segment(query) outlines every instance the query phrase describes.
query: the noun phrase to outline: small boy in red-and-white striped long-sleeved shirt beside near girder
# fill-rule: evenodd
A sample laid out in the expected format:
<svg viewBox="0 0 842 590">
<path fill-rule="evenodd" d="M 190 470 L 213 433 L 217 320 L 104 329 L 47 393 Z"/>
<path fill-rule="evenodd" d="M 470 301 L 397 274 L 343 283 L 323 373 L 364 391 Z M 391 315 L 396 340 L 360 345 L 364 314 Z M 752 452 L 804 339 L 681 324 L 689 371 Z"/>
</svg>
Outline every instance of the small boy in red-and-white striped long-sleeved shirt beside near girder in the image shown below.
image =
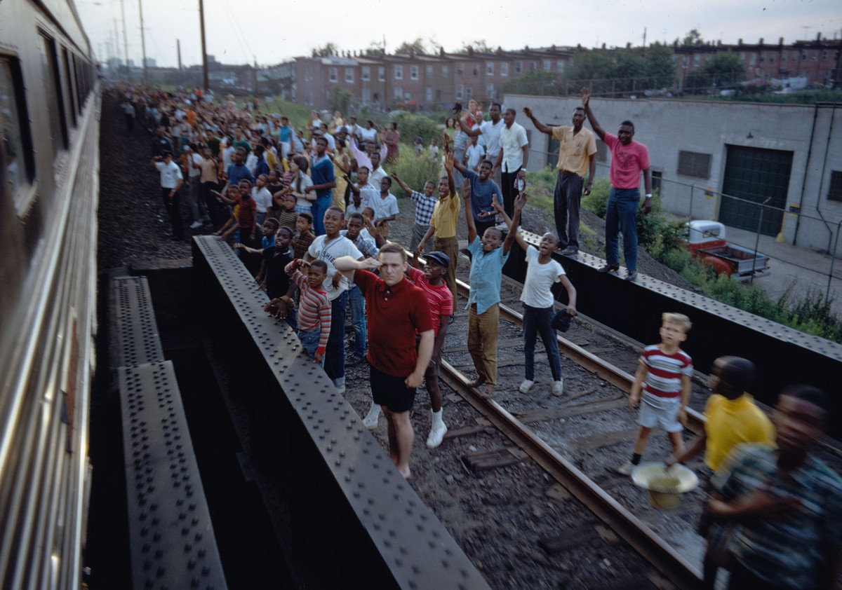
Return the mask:
<svg viewBox="0 0 842 590">
<path fill-rule="evenodd" d="M 306 268 L 306 277 L 299 269 Z M 286 265 L 286 274 L 299 288 L 298 339 L 307 356 L 324 366 L 324 352 L 330 335 L 331 303 L 328 293 L 322 291 L 322 282 L 328 276 L 324 261 L 307 262 L 296 258 Z"/>
</svg>

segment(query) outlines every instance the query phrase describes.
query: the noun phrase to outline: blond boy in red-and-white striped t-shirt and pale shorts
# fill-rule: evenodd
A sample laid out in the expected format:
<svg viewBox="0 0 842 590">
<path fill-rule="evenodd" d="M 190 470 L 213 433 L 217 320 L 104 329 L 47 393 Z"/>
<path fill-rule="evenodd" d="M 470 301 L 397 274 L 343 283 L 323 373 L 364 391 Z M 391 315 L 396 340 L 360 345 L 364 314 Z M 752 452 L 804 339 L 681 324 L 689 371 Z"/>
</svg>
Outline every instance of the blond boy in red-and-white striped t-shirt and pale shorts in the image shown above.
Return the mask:
<svg viewBox="0 0 842 590">
<path fill-rule="evenodd" d="M 681 430 L 687 421 L 687 403 L 690 401 L 690 376 L 693 374 L 693 361 L 681 350 L 680 345 L 687 340 L 690 331 L 690 318 L 682 313 L 663 313 L 661 316 L 661 341 L 657 345 L 647 346 L 640 356 L 640 366 L 635 373 L 632 394 L 629 396 L 629 411 L 633 412 L 641 399 L 640 432 L 634 444 L 631 461 L 626 461 L 617 468 L 622 475 L 629 475 L 640 463 L 640 457 L 655 426 L 666 430 L 673 447 L 673 456 L 685 452 Z"/>
</svg>

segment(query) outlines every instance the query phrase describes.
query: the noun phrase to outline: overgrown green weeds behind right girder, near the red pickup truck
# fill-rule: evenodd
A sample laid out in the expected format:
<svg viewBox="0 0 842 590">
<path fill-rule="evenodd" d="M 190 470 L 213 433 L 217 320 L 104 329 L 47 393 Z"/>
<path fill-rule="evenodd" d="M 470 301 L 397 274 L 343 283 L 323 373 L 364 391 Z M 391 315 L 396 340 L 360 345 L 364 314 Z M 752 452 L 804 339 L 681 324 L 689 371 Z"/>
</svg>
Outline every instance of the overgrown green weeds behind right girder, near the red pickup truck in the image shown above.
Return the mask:
<svg viewBox="0 0 842 590">
<path fill-rule="evenodd" d="M 584 207 L 603 219 L 609 188 L 607 180 L 597 181 L 589 197 L 583 198 Z M 833 300 L 825 300 L 823 294 L 815 290 L 799 299 L 786 292 L 775 300 L 762 287 L 717 275 L 710 266 L 701 264 L 685 250 L 681 240 L 685 221 L 676 221 L 665 215 L 656 194 L 652 213 L 638 216 L 638 241 L 656 261 L 678 272 L 708 297 L 806 334 L 842 343 L 842 319 L 831 307 Z"/>
</svg>

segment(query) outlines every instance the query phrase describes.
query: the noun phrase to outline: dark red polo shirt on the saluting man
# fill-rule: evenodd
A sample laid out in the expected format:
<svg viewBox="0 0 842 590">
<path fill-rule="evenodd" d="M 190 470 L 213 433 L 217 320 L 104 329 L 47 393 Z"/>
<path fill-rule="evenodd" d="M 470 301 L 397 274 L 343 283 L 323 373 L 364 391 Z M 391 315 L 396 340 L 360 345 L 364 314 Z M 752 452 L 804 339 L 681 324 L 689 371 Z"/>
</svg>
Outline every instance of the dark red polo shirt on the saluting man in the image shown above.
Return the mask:
<svg viewBox="0 0 842 590">
<path fill-rule="evenodd" d="M 415 371 L 415 333 L 433 329 L 424 291 L 407 279 L 389 287 L 373 272 L 354 271 L 354 283 L 365 295 L 369 351 L 366 359 L 392 377 Z"/>
</svg>

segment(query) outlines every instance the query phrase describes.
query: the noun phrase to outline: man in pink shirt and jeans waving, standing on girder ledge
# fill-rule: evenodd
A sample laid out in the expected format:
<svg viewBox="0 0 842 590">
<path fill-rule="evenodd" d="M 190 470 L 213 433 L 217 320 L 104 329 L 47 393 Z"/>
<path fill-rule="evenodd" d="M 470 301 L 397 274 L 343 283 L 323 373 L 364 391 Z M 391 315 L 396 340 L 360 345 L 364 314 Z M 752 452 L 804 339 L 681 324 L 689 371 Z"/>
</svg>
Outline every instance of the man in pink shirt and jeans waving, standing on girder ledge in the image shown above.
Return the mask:
<svg viewBox="0 0 842 590">
<path fill-rule="evenodd" d="M 626 281 L 637 278 L 637 208 L 640 205 L 640 173 L 646 187 L 643 214 L 652 209 L 652 174 L 649 172 L 649 150 L 646 145 L 632 141 L 634 124 L 623 121 L 616 135 L 600 127 L 590 110 L 590 92 L 582 89 L 582 104 L 594 133 L 611 150 L 611 191 L 605 212 L 605 266 L 600 272 L 620 269 L 617 250 L 618 233 L 623 234 L 623 255 L 626 256 Z"/>
</svg>

